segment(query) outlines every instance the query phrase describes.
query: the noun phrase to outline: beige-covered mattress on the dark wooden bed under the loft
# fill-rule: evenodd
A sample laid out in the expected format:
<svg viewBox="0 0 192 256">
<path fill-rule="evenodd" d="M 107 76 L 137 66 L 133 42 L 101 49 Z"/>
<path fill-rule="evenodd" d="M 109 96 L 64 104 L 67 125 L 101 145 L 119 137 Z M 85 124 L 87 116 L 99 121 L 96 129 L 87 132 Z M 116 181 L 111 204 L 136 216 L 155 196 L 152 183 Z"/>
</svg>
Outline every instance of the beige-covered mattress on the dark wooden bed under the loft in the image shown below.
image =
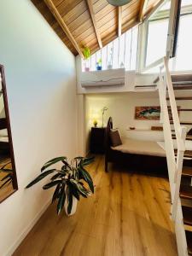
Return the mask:
<svg viewBox="0 0 192 256">
<path fill-rule="evenodd" d="M 166 157 L 166 151 L 157 142 L 135 140 L 131 138 L 122 139 L 122 145 L 111 147 L 128 154 L 143 154 Z"/>
</svg>

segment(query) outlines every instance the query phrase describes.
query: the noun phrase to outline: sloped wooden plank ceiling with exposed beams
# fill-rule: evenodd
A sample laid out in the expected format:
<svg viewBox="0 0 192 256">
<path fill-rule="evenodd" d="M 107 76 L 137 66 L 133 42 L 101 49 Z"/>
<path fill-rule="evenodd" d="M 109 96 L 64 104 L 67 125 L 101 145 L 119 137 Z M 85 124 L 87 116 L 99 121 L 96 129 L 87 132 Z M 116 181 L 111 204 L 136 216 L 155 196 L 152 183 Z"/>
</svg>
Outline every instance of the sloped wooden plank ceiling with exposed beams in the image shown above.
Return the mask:
<svg viewBox="0 0 192 256">
<path fill-rule="evenodd" d="M 141 22 L 162 0 L 132 0 L 114 7 L 107 0 L 32 0 L 73 55 L 94 53 Z"/>
</svg>

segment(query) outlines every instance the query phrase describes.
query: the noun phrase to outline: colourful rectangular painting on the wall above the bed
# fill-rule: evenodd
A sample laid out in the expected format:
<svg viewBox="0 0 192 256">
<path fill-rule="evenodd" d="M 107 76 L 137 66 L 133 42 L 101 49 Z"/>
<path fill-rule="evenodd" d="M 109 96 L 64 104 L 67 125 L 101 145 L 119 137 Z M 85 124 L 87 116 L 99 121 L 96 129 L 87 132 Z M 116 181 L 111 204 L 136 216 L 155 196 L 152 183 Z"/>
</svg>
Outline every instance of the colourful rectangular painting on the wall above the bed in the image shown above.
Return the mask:
<svg viewBox="0 0 192 256">
<path fill-rule="evenodd" d="M 160 106 L 136 107 L 135 119 L 137 119 L 137 120 L 160 120 Z"/>
</svg>

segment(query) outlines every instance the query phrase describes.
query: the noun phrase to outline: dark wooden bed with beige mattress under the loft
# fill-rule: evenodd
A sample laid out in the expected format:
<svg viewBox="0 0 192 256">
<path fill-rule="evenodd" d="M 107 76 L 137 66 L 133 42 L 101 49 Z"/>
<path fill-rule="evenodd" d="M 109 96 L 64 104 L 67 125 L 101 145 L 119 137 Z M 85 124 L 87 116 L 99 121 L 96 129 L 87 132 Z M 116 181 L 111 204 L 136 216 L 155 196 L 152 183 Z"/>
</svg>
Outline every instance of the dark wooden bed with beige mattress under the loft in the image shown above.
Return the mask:
<svg viewBox="0 0 192 256">
<path fill-rule="evenodd" d="M 112 147 L 110 131 L 113 120 L 108 119 L 105 143 L 105 171 L 108 163 L 123 164 L 129 170 L 136 172 L 153 172 L 167 175 L 166 152 L 157 142 L 122 139 L 122 145 Z"/>
</svg>

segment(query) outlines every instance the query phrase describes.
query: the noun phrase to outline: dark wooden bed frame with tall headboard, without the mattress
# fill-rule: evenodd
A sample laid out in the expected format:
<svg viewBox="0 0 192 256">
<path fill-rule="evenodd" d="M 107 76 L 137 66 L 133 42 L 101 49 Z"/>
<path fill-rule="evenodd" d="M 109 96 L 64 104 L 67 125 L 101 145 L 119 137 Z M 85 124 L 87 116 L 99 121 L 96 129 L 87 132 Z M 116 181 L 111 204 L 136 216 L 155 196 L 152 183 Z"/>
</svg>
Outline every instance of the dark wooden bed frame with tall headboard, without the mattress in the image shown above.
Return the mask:
<svg viewBox="0 0 192 256">
<path fill-rule="evenodd" d="M 116 163 L 128 168 L 131 172 L 144 172 L 158 175 L 168 175 L 166 157 L 143 155 L 143 154 L 127 154 L 111 148 L 109 133 L 113 129 L 113 120 L 108 119 L 106 129 L 105 142 L 105 172 L 108 172 L 108 163 Z"/>
</svg>

